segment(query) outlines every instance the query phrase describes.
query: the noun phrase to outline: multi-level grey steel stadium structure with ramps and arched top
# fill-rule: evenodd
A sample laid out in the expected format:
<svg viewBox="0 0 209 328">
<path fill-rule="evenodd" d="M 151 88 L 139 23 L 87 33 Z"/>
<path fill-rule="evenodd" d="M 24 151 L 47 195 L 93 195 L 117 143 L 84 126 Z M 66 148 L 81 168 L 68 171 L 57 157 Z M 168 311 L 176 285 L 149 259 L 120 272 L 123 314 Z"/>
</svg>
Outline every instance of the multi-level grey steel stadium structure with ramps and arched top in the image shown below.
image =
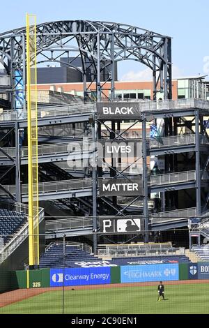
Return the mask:
<svg viewBox="0 0 209 328">
<path fill-rule="evenodd" d="M 76 135 L 76 124 L 91 124 L 93 148 L 89 151 L 75 151 L 69 154 L 68 141 L 75 140 L 68 137 L 64 144 L 56 144 L 59 140 L 56 133 L 52 139 L 40 135 L 38 159 L 40 165 L 40 201 L 60 200 L 63 208 L 69 206 L 76 211 L 77 207 L 83 209 L 85 216 L 66 220 L 62 229 L 57 228 L 57 221 L 47 221 L 46 229 L 60 237 L 63 232 L 68 235 L 93 234 L 94 251 L 97 246 L 97 236 L 100 223 L 104 216 L 114 218 L 130 218 L 136 214 L 143 214 L 145 241 L 148 241 L 148 231 L 165 230 L 187 226 L 191 216 L 201 216 L 208 208 L 208 135 L 203 124 L 203 117 L 208 117 L 208 102 L 201 100 L 171 100 L 171 38 L 158 33 L 111 22 L 90 21 L 61 21 L 39 24 L 37 26 L 37 63 L 61 62 L 63 54 L 70 58 L 71 52 L 82 58 L 81 71 L 84 81 L 84 103 L 66 103 L 58 106 L 54 103 L 43 107 L 39 104 L 38 127 L 45 127 L 46 131 L 52 127 L 54 131 L 59 126 L 68 125 L 72 135 Z M 27 202 L 26 174 L 21 166 L 27 163 L 27 148 L 20 145 L 20 133 L 26 132 L 26 29 L 20 28 L 0 34 L 1 64 L 6 68 L 7 76 L 1 79 L 1 94 L 7 94 L 7 100 L 2 97 L 1 107 L 1 196 L 10 196 L 17 202 Z M 134 197 L 127 205 L 122 205 L 118 197 L 100 197 L 98 195 L 98 181 L 105 177 L 104 171 L 93 167 L 92 174 L 86 178 L 86 173 L 69 172 L 55 165 L 56 161 L 71 159 L 86 159 L 93 156 L 96 161 L 95 142 L 104 139 L 101 126 L 106 126 L 109 140 L 125 140 L 121 131 L 121 121 L 112 120 L 111 128 L 106 124 L 107 119 L 98 119 L 97 106 L 91 100 L 90 88 L 95 82 L 97 103 L 104 100 L 104 90 L 107 82 L 111 82 L 109 99 L 114 96 L 114 64 L 116 61 L 135 60 L 145 64 L 153 70 L 153 100 L 139 103 L 140 115 L 138 121 L 142 124 L 142 176 L 143 179 L 143 210 L 133 207 L 132 204 L 139 197 Z M 66 64 L 66 63 L 65 63 Z M 69 66 L 73 62 L 69 61 Z M 91 83 L 87 84 L 86 74 L 91 71 Z M 101 82 L 102 71 L 108 72 L 107 79 Z M 164 92 L 164 100 L 155 101 L 157 91 Z M 192 117 L 192 119 L 191 119 Z M 147 140 L 146 122 L 161 119 L 164 127 L 160 137 Z M 109 121 L 109 119 L 108 119 Z M 133 124 L 133 125 L 134 125 Z M 187 135 L 183 131 L 189 131 Z M 68 129 L 67 129 L 68 130 Z M 50 134 L 50 133 L 49 133 Z M 54 140 L 54 144 L 52 144 Z M 82 142 L 81 137 L 77 141 Z M 62 142 L 63 140 L 61 140 Z M 139 140 L 138 140 L 139 141 Z M 3 147 L 4 146 L 4 147 Z M 188 154 L 192 154 L 190 158 Z M 157 176 L 148 175 L 147 157 L 164 156 L 165 171 Z M 189 166 L 190 165 L 190 166 Z M 109 165 L 109 177 L 124 177 L 127 172 L 119 170 L 115 165 Z M 188 171 L 189 167 L 189 171 Z M 15 168 L 14 178 L 8 177 L 9 172 Z M 50 177 L 56 175 L 56 180 L 50 182 Z M 80 175 L 79 175 L 80 174 Z M 78 177 L 80 179 L 78 179 Z M 81 177 L 83 179 L 81 179 Z M 57 179 L 59 178 L 59 179 Z M 74 179 L 73 179 L 74 178 Z M 165 211 L 166 207 L 175 206 L 178 209 L 178 191 L 194 189 L 194 207 L 183 208 L 176 211 Z M 157 214 L 150 213 L 148 200 L 150 193 L 161 193 L 161 209 Z M 192 196 L 193 197 L 193 196 Z M 72 200 L 71 202 L 69 200 Z M 191 203 L 191 202 L 190 202 Z M 106 206 L 107 205 L 107 206 Z M 186 204 L 185 204 L 186 205 Z M 47 207 L 47 203 L 45 204 Z M 68 207 L 68 208 L 69 208 Z M 103 207 L 103 208 L 102 208 Z M 107 208 L 105 208 L 107 207 Z M 104 209 L 105 208 L 105 209 Z M 62 209 L 63 210 L 63 209 Z M 67 213 L 67 211 L 65 212 Z M 205 220 L 206 218 L 204 218 Z M 63 222 L 63 221 L 62 221 Z M 73 224 L 72 224 L 73 223 Z M 133 232 L 132 232 L 133 234 Z M 50 234 L 52 238 L 52 234 Z"/>
</svg>

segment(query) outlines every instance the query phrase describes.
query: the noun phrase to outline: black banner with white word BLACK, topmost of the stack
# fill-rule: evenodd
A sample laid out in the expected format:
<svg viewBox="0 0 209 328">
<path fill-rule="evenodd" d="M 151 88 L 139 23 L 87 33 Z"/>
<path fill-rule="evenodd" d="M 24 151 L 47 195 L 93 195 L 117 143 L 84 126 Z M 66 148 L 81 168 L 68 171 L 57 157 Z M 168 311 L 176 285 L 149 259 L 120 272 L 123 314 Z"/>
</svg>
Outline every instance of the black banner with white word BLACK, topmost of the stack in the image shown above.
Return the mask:
<svg viewBox="0 0 209 328">
<path fill-rule="evenodd" d="M 139 103 L 97 103 L 98 119 L 141 119 Z"/>
</svg>

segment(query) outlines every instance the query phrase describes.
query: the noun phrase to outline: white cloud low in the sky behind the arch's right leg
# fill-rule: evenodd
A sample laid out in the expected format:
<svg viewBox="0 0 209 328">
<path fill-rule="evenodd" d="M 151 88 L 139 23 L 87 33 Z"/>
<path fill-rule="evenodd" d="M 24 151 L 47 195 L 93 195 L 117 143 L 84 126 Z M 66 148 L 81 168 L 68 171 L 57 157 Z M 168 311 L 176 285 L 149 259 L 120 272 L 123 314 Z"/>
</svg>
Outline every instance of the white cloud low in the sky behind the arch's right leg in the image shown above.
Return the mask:
<svg viewBox="0 0 209 328">
<path fill-rule="evenodd" d="M 172 66 L 173 78 L 183 77 L 183 70 L 180 70 L 178 66 Z M 145 68 L 144 70 L 130 70 L 121 77 L 121 81 L 144 81 L 153 80 L 153 71 L 150 68 Z"/>
</svg>

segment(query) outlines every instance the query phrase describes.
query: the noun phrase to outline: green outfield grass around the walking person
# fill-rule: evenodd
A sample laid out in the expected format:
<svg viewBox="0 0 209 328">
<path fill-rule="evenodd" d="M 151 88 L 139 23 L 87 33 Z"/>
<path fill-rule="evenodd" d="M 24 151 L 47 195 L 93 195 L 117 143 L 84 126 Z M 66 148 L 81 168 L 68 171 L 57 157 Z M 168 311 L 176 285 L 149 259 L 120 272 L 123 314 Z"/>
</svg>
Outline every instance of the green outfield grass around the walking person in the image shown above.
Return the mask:
<svg viewBox="0 0 209 328">
<path fill-rule="evenodd" d="M 1 295 L 0 295 L 1 297 Z M 45 292 L 0 313 L 62 313 L 62 291 Z M 65 290 L 65 313 L 209 313 L 209 284 L 166 285 L 166 301 L 157 301 L 156 286 Z"/>
</svg>

